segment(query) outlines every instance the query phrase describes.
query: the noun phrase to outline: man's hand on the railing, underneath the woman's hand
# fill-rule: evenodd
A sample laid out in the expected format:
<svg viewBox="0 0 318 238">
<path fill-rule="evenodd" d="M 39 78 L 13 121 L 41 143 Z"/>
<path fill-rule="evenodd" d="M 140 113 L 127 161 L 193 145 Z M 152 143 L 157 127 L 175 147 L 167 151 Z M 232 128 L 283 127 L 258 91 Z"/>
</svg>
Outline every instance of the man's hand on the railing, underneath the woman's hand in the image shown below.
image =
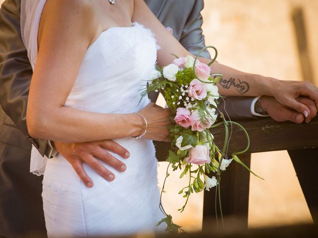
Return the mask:
<svg viewBox="0 0 318 238">
<path fill-rule="evenodd" d="M 290 120 L 295 123 L 302 123 L 304 120 L 308 123 L 317 115 L 316 104 L 313 100 L 305 97 L 299 97 L 297 99 L 299 103 L 306 105 L 309 109 L 308 117 L 299 112 L 296 112 L 292 108 L 286 107 L 276 101 L 274 97 L 263 96 L 261 101 L 262 109 L 268 113 L 268 115 L 276 121 Z"/>
</svg>

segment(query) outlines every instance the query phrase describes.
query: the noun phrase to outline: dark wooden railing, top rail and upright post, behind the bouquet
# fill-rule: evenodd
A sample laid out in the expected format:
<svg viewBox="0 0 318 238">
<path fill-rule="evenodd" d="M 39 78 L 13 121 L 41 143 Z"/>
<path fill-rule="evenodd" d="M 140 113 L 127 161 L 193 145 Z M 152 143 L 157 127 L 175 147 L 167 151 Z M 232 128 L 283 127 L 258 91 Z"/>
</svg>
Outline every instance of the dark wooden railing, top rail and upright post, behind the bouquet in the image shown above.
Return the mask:
<svg viewBox="0 0 318 238">
<path fill-rule="evenodd" d="M 238 122 L 246 129 L 250 137 L 249 150 L 239 157 L 247 166 L 250 166 L 251 153 L 318 147 L 318 117 L 310 123 L 302 124 L 288 121 L 277 122 L 270 118 Z M 215 128 L 212 133 L 215 137 L 214 142 L 222 148 L 224 127 Z M 231 156 L 232 152 L 243 150 L 246 144 L 243 131 L 233 126 L 228 155 Z M 155 146 L 157 158 L 163 161 L 169 145 L 156 142 Z M 227 218 L 226 223 L 236 223 L 247 228 L 249 176 L 249 172 L 238 163 L 232 163 L 227 171 L 222 173 L 221 199 L 222 204 L 225 204 L 222 211 Z M 203 217 L 203 230 L 205 230 L 207 226 L 211 226 L 210 220 L 216 218 L 214 192 L 205 191 Z"/>
</svg>

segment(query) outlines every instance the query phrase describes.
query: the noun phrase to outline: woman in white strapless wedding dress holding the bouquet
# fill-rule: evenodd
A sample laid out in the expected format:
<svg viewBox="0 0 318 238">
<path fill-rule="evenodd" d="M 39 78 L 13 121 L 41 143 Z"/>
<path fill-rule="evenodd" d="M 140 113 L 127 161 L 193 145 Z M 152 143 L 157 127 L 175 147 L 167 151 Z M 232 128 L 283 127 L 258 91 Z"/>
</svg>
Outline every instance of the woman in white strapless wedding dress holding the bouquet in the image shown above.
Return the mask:
<svg viewBox="0 0 318 238">
<path fill-rule="evenodd" d="M 62 155 L 46 162 L 32 149 L 33 172 L 45 169 L 42 196 L 49 237 L 131 234 L 155 229 L 163 217 L 152 140 L 167 140 L 169 112 L 146 98 L 138 104 L 139 89 L 154 77 L 156 62 L 164 66 L 174 59 L 171 53 L 190 53 L 143 0 L 110 2 L 21 1 L 21 33 L 33 67 L 27 108 L 30 135 L 75 143 L 113 139 L 130 151 L 127 170 L 114 172 L 112 182 L 83 164 L 94 181 L 88 188 Z M 152 32 L 161 47 L 158 52 Z M 214 71 L 241 75 L 214 65 Z M 267 92 L 259 81 L 246 79 L 246 96 Z M 235 88 L 219 91 L 239 95 Z M 132 138 L 139 135 L 143 137 Z"/>
</svg>

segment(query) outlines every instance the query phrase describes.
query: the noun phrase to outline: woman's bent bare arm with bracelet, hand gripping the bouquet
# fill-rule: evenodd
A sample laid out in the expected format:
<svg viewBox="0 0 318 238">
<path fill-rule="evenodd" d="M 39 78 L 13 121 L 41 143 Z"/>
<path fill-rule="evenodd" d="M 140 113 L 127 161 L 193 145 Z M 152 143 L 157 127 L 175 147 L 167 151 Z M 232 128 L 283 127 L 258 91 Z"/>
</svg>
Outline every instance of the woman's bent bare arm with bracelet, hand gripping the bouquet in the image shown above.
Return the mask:
<svg viewBox="0 0 318 238">
<path fill-rule="evenodd" d="M 27 105 L 31 136 L 61 142 L 87 142 L 136 136 L 145 122 L 136 114 L 98 114 L 65 107 L 80 64 L 94 38 L 93 12 L 78 0 L 48 0 L 41 17 L 38 60 Z M 151 126 L 158 121 L 158 135 L 168 134 L 166 111 L 153 105 L 143 110 Z M 154 118 L 156 117 L 156 118 Z M 149 127 L 150 128 L 150 127 Z M 165 128 L 165 130 L 164 130 Z M 147 133 L 152 137 L 151 131 Z M 156 139 L 156 138 L 151 138 Z"/>
</svg>

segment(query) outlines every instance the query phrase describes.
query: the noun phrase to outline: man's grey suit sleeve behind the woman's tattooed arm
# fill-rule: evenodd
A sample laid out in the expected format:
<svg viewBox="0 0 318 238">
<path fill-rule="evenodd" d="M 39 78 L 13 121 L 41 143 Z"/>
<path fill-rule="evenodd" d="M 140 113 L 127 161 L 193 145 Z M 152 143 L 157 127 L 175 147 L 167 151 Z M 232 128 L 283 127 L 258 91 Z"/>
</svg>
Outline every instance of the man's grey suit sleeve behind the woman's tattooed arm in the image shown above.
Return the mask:
<svg viewBox="0 0 318 238">
<path fill-rule="evenodd" d="M 203 18 L 201 11 L 204 7 L 203 0 L 195 0 L 192 12 L 182 31 L 180 43 L 189 52 L 197 55 L 205 47 L 204 35 L 202 32 Z M 201 53 L 202 57 L 211 59 L 208 51 Z M 250 106 L 254 97 L 226 97 L 220 101 L 219 108 L 227 118 L 240 120 L 252 119 Z M 228 115 L 228 116 L 227 116 Z"/>
</svg>

